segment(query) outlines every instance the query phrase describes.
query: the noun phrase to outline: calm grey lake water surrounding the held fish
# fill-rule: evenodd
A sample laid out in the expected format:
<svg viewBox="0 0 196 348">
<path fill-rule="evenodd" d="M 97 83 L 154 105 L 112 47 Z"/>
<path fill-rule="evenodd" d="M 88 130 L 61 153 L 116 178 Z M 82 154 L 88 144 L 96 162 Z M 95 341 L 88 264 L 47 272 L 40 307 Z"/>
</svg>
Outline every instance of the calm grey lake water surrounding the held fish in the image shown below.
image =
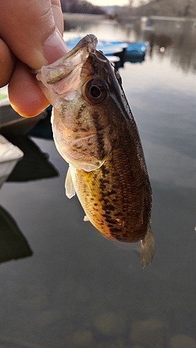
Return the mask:
<svg viewBox="0 0 196 348">
<path fill-rule="evenodd" d="M 121 40 L 151 33 L 100 22 L 72 24 L 65 37 L 75 32 Z M 153 262 L 142 269 L 137 253 L 83 221 L 77 198 L 65 196 L 68 166 L 53 141 L 31 138 L 59 176 L 29 155 L 31 180 L 21 170 L 1 188 L 1 210 L 33 252 L 0 266 L 2 348 L 196 347 L 196 26 L 157 22 L 153 33 L 172 46 L 119 69 L 153 188 Z M 32 180 L 42 169 L 51 177 Z"/>
</svg>

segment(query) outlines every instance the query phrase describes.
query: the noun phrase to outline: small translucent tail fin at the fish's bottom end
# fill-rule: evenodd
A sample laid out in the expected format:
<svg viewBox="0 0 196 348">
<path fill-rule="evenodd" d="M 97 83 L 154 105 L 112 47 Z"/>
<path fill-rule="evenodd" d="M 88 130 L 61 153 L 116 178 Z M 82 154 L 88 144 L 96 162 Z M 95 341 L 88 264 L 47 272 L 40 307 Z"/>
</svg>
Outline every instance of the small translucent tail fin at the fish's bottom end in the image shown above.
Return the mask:
<svg viewBox="0 0 196 348">
<path fill-rule="evenodd" d="M 146 267 L 153 260 L 153 255 L 155 253 L 155 241 L 153 237 L 153 232 L 151 230 L 151 225 L 149 223 L 144 239 L 141 240 L 141 260 L 142 267 Z"/>
</svg>

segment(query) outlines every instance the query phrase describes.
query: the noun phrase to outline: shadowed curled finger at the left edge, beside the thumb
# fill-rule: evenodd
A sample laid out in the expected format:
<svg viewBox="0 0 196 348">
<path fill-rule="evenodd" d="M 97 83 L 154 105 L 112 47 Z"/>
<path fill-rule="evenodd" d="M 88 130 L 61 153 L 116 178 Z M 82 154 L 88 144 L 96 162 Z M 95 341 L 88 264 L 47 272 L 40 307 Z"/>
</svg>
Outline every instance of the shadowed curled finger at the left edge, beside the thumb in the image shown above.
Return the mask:
<svg viewBox="0 0 196 348">
<path fill-rule="evenodd" d="M 0 39 L 0 88 L 10 81 L 15 66 L 15 57 L 3 40 Z"/>
</svg>

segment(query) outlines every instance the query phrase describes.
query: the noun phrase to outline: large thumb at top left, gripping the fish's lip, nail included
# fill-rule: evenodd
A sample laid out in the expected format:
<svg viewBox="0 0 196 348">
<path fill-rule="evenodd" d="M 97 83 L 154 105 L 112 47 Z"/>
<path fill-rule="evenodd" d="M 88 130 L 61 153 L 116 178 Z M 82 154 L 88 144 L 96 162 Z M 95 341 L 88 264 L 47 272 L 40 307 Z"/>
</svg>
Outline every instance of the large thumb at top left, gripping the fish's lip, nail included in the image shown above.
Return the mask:
<svg viewBox="0 0 196 348">
<path fill-rule="evenodd" d="M 66 45 L 56 30 L 59 27 L 62 31 L 63 25 L 59 0 L 0 1 L 0 13 L 1 38 L 31 68 L 39 69 L 66 54 Z"/>
</svg>

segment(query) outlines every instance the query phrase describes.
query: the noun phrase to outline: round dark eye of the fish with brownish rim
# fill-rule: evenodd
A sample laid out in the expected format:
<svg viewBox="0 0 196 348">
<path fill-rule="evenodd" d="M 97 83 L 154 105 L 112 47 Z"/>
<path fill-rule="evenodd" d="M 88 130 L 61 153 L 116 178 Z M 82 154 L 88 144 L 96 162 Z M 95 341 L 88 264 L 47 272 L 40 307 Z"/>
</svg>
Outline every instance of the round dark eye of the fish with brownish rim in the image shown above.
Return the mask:
<svg viewBox="0 0 196 348">
<path fill-rule="evenodd" d="M 107 83 L 100 78 L 93 78 L 84 84 L 82 93 L 86 102 L 90 104 L 100 104 L 107 97 Z"/>
</svg>

